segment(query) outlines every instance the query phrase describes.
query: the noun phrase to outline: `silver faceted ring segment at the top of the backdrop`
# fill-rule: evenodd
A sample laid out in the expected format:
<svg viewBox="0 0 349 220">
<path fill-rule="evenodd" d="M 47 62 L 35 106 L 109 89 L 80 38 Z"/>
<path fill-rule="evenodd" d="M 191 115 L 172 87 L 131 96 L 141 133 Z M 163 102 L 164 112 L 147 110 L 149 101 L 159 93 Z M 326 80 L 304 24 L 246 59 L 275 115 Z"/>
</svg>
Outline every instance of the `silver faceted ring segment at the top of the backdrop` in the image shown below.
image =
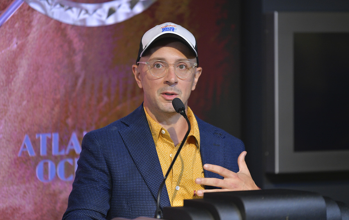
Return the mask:
<svg viewBox="0 0 349 220">
<path fill-rule="evenodd" d="M 79 3 L 69 0 L 24 0 L 40 13 L 57 21 L 79 26 L 104 26 L 125 21 L 147 9 L 156 0 L 113 0 Z"/>
</svg>

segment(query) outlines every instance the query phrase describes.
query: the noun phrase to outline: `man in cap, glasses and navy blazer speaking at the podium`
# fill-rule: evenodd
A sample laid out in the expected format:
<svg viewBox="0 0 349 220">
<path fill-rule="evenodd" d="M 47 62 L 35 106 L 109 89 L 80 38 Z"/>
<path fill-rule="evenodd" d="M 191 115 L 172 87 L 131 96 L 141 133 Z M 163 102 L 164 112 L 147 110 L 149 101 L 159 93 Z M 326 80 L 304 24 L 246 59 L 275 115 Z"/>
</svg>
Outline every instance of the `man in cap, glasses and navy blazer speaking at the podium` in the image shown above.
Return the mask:
<svg viewBox="0 0 349 220">
<path fill-rule="evenodd" d="M 154 217 L 159 185 L 188 128 L 172 106 L 176 97 L 185 105 L 191 131 L 166 179 L 160 206 L 180 206 L 204 192 L 258 189 L 243 142 L 200 120 L 187 106 L 202 72 L 192 33 L 174 23 L 153 27 L 141 39 L 132 71 L 144 102 L 84 136 L 63 219 Z"/>
</svg>

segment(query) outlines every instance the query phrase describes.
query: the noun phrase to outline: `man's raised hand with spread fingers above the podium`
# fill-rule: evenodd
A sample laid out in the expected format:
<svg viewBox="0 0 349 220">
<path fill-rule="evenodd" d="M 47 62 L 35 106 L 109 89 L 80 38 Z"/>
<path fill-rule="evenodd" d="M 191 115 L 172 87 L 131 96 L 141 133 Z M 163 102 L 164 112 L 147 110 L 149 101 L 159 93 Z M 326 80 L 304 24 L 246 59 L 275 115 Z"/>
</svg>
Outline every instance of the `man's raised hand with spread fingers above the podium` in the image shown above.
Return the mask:
<svg viewBox="0 0 349 220">
<path fill-rule="evenodd" d="M 204 192 L 222 192 L 222 191 L 242 191 L 242 190 L 258 190 L 258 186 L 254 183 L 250 171 L 245 162 L 247 152 L 243 151 L 238 157 L 239 172 L 235 173 L 224 167 L 205 164 L 205 170 L 217 173 L 224 177 L 224 179 L 217 178 L 196 178 L 195 183 L 206 186 L 221 187 L 222 189 L 205 189 L 198 190 L 196 194 L 203 196 Z"/>
</svg>

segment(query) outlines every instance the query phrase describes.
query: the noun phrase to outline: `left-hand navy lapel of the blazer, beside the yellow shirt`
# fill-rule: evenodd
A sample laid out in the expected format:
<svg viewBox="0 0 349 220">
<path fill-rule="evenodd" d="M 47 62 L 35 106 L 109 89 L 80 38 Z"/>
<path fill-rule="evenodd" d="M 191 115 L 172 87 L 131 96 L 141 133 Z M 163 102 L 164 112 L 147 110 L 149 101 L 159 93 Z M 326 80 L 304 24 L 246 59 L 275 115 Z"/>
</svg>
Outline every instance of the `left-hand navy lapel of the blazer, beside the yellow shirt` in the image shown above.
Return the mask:
<svg viewBox="0 0 349 220">
<path fill-rule="evenodd" d="M 156 201 L 158 189 L 164 177 L 143 105 L 131 113 L 130 117 L 124 118 L 123 121 L 129 126 L 120 131 L 120 134 Z M 171 206 L 165 185 L 162 188 L 160 200 L 161 207 Z"/>
</svg>

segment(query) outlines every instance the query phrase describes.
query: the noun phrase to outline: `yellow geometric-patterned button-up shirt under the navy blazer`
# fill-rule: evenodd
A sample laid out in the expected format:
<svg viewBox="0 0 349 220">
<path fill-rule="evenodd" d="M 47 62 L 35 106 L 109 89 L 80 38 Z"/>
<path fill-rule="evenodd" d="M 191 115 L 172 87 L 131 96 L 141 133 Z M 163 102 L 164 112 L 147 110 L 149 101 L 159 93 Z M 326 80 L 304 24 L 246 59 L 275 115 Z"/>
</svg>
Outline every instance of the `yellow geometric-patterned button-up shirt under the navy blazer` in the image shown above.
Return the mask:
<svg viewBox="0 0 349 220">
<path fill-rule="evenodd" d="M 181 142 L 175 147 L 166 129 L 152 119 L 145 108 L 144 112 L 153 135 L 162 173 L 165 175 Z M 203 178 L 204 175 L 200 156 L 199 126 L 193 111 L 189 107 L 188 119 L 191 124 L 191 131 L 165 181 L 171 206 L 183 206 L 183 199 L 202 198 L 194 196 L 194 190 L 205 189 L 195 183 L 196 178 Z"/>
</svg>

